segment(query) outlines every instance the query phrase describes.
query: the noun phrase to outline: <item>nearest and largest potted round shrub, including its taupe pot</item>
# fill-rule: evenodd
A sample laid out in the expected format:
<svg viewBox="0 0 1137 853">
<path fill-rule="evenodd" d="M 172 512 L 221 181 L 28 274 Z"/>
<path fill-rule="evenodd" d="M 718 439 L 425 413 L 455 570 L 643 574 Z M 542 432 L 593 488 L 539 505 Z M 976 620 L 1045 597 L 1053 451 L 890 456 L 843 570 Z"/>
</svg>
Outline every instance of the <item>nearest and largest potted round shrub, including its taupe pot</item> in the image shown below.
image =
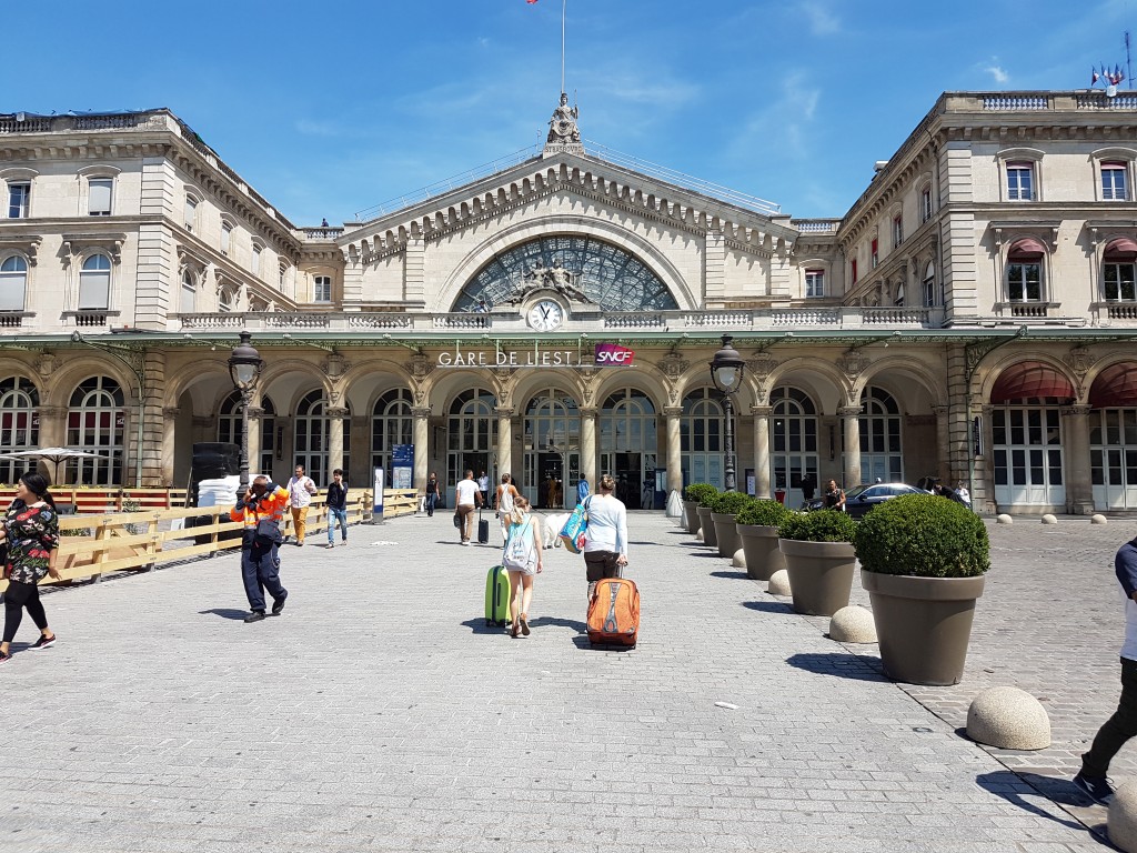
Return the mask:
<svg viewBox="0 0 1137 853">
<path fill-rule="evenodd" d="M 958 684 L 990 568 L 982 520 L 954 500 L 903 495 L 869 513 L 853 541 L 885 671 L 910 684 Z"/>
</svg>

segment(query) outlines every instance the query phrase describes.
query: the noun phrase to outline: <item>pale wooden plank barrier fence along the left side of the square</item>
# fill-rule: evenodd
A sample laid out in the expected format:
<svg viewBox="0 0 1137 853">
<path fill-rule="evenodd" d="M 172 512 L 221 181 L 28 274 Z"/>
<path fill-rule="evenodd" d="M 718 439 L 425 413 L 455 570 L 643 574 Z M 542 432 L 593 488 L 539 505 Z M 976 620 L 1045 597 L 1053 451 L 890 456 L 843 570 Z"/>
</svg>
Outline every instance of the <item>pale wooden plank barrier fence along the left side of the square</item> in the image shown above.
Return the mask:
<svg viewBox="0 0 1137 853">
<path fill-rule="evenodd" d="M 57 504 L 64 503 L 64 497 L 82 489 L 52 489 Z M 100 491 L 100 490 L 93 490 Z M 133 496 L 140 489 L 125 489 L 124 494 Z M 160 489 L 151 499 L 157 503 Z M 101 490 L 103 499 L 116 490 Z M 11 492 L 15 496 L 15 491 Z M 0 500 L 5 492 L 0 491 Z M 312 499 L 307 516 L 307 535 L 322 533 L 327 530 L 327 506 L 325 495 L 319 494 Z M 10 498 L 9 498 L 10 500 Z M 414 489 L 384 489 L 384 517 L 414 513 L 418 502 Z M 82 506 L 82 503 L 76 503 Z M 59 556 L 56 566 L 59 569 L 58 581 L 44 578 L 42 583 L 70 583 L 74 580 L 90 578 L 99 580 L 103 574 L 118 571 L 152 571 L 163 563 L 184 561 L 193 557 L 208 557 L 214 554 L 234 550 L 241 547 L 240 522 L 223 521 L 231 506 L 157 508 L 142 512 L 100 512 L 81 513 L 59 516 Z M 372 519 L 372 492 L 370 490 L 348 491 L 348 524 L 359 524 Z M 292 515 L 284 513 L 281 532 L 292 535 Z M 193 540 L 185 545 L 185 540 Z M 0 593 L 8 581 L 0 580 Z"/>
</svg>

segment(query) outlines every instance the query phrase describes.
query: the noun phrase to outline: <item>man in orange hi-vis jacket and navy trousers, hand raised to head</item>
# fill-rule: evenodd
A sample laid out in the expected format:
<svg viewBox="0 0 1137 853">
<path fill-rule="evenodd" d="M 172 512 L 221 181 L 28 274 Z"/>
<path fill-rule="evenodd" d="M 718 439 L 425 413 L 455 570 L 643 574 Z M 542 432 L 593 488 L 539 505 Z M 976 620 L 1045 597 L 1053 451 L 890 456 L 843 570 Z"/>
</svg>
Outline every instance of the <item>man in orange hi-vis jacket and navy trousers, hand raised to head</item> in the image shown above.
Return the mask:
<svg viewBox="0 0 1137 853">
<path fill-rule="evenodd" d="M 289 492 L 283 486 L 258 477 L 248 491 L 233 506 L 230 517 L 244 523 L 241 540 L 241 579 L 249 599 L 246 622 L 265 618 L 265 590 L 273 597 L 273 615 L 284 610 L 288 590 L 280 579 L 280 525 L 289 505 Z M 262 523 L 265 522 L 265 523 Z M 275 522 L 275 530 L 273 524 Z"/>
</svg>

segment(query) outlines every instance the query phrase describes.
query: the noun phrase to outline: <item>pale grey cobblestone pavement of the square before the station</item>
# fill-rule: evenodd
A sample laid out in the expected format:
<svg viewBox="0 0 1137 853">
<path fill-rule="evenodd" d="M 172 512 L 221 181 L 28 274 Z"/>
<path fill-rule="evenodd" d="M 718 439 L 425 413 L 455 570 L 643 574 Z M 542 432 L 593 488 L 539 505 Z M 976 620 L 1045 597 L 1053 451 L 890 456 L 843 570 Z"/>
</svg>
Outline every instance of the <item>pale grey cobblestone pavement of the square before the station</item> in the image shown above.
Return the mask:
<svg viewBox="0 0 1137 853">
<path fill-rule="evenodd" d="M 919 689 L 661 514 L 631 527 L 632 652 L 588 647 L 562 549 L 532 636 L 487 629 L 497 548 L 447 514 L 285 546 L 257 624 L 235 556 L 52 590 L 59 643 L 25 624 L 0 666 L 0 850 L 1103 850 L 1068 777 L 1117 702 L 1131 524 L 993 525 L 964 681 Z M 956 732 L 996 684 L 1045 701 L 1052 748 Z"/>
</svg>

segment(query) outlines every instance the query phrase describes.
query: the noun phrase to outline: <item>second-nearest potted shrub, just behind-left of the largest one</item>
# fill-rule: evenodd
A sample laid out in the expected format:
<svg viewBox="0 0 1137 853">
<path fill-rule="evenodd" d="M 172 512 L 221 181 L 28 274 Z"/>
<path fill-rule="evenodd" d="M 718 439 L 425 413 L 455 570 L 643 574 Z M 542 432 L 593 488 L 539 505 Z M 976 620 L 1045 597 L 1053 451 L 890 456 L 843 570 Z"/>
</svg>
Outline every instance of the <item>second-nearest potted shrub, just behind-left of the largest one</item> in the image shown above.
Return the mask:
<svg viewBox="0 0 1137 853">
<path fill-rule="evenodd" d="M 778 527 L 795 611 L 831 616 L 848 605 L 856 569 L 855 530 L 856 522 L 837 510 L 794 513 Z"/>
</svg>

